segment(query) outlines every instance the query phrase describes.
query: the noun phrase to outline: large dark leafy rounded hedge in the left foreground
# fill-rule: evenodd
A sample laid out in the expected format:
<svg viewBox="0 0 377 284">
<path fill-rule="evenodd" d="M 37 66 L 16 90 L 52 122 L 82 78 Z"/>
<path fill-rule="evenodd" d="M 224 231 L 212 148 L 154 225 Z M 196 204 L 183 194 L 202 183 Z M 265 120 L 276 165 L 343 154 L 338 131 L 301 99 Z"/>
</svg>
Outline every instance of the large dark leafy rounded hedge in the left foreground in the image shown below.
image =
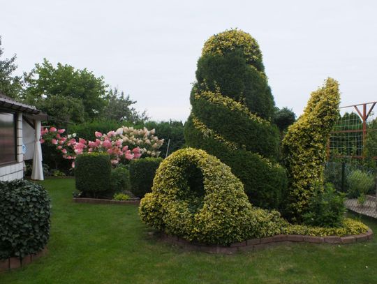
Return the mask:
<svg viewBox="0 0 377 284">
<path fill-rule="evenodd" d="M 36 254 L 50 237 L 50 197 L 39 184 L 0 181 L 0 259 Z"/>
</svg>

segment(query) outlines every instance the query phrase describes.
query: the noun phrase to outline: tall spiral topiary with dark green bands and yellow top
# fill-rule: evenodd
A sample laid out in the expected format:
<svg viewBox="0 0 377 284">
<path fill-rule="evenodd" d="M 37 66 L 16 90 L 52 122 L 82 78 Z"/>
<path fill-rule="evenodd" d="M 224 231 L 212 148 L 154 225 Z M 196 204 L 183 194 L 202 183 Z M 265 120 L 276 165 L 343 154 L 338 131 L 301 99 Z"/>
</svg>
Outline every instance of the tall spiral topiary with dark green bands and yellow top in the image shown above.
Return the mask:
<svg viewBox="0 0 377 284">
<path fill-rule="evenodd" d="M 270 123 L 274 99 L 258 43 L 230 30 L 205 43 L 185 126 L 189 147 L 204 149 L 232 168 L 249 200 L 279 208 L 286 172 L 275 162 L 279 130 Z"/>
</svg>

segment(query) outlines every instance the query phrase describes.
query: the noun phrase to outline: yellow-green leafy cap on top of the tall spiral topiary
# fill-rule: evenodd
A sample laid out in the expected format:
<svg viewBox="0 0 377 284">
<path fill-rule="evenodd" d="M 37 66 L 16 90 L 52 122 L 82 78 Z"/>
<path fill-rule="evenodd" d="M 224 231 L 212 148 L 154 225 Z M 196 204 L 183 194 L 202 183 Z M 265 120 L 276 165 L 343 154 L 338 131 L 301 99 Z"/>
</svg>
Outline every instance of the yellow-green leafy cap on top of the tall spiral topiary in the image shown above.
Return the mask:
<svg viewBox="0 0 377 284">
<path fill-rule="evenodd" d="M 241 50 L 246 61 L 256 67 L 257 70 L 262 72 L 265 70 L 258 42 L 249 33 L 238 29 L 230 29 L 211 36 L 205 42 L 202 56 L 205 54 L 223 55 L 235 50 Z"/>
</svg>

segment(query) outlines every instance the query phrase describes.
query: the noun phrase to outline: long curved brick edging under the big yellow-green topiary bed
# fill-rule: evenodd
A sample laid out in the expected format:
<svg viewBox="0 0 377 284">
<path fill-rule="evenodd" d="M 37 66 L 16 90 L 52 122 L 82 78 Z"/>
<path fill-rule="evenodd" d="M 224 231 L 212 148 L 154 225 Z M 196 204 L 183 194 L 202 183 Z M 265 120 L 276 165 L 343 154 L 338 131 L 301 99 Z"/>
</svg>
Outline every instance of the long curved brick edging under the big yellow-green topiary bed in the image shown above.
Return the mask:
<svg viewBox="0 0 377 284">
<path fill-rule="evenodd" d="M 267 248 L 269 246 L 276 246 L 279 244 L 291 244 L 297 242 L 306 242 L 312 244 L 353 244 L 360 241 L 368 241 L 372 239 L 373 232 L 369 229 L 364 234 L 356 234 L 353 236 L 337 237 L 313 237 L 304 236 L 301 234 L 278 234 L 274 237 L 265 237 L 260 239 L 248 239 L 247 241 L 242 241 L 240 243 L 230 244 L 230 246 L 216 246 L 216 245 L 206 245 L 198 244 L 186 239 L 181 239 L 176 236 L 170 236 L 164 232 L 161 234 L 163 241 L 169 242 L 171 244 L 177 244 L 178 246 L 186 249 L 187 251 L 202 251 L 205 253 L 225 253 L 232 254 L 237 251 L 258 251 L 262 248 Z"/>
</svg>

